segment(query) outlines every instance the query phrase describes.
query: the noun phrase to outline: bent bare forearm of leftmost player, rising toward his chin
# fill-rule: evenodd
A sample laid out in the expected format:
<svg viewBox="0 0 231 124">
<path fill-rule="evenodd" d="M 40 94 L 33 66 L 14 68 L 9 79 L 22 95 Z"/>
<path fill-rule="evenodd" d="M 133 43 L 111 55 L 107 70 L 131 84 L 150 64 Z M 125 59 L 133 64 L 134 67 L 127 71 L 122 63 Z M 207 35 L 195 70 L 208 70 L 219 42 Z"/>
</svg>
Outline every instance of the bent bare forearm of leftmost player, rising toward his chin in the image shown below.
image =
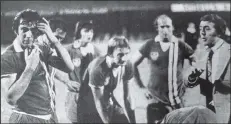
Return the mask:
<svg viewBox="0 0 231 124">
<path fill-rule="evenodd" d="M 9 104 L 15 105 L 18 99 L 25 93 L 31 82 L 33 72 L 39 63 L 39 60 L 39 52 L 38 50 L 34 49 L 26 58 L 26 67 L 18 80 L 16 80 L 16 74 L 1 75 L 1 80 L 3 80 L 3 82 L 6 84 L 6 99 Z"/>
</svg>

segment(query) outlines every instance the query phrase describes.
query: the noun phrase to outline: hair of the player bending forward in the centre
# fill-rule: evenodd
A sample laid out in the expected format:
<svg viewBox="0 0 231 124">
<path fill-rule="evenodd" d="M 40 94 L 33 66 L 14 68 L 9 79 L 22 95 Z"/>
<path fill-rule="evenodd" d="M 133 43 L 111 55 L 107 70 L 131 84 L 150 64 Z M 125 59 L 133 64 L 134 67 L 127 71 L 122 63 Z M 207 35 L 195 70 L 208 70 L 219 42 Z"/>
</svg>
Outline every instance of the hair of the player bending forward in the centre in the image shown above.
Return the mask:
<svg viewBox="0 0 231 124">
<path fill-rule="evenodd" d="M 116 48 L 128 48 L 128 39 L 124 36 L 115 36 L 108 41 L 107 55 L 111 55 Z"/>
</svg>

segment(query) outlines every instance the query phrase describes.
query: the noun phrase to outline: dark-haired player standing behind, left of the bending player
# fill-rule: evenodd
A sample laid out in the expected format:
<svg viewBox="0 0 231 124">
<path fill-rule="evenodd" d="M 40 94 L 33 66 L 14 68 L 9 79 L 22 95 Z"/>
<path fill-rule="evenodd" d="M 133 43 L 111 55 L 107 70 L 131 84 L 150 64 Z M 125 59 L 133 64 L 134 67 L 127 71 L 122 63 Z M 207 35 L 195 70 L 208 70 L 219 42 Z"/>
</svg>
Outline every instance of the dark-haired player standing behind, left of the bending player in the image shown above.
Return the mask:
<svg viewBox="0 0 231 124">
<path fill-rule="evenodd" d="M 97 56 L 100 51 L 91 43 L 94 35 L 92 21 L 79 21 L 76 24 L 75 37 L 72 44 L 67 46 L 74 64 L 74 71 L 64 76 L 64 73 L 56 71 L 56 78 L 68 86 L 66 97 L 67 117 L 72 123 L 78 123 L 77 101 L 79 97 L 79 87 L 82 83 L 83 74 L 88 64 Z"/>
</svg>

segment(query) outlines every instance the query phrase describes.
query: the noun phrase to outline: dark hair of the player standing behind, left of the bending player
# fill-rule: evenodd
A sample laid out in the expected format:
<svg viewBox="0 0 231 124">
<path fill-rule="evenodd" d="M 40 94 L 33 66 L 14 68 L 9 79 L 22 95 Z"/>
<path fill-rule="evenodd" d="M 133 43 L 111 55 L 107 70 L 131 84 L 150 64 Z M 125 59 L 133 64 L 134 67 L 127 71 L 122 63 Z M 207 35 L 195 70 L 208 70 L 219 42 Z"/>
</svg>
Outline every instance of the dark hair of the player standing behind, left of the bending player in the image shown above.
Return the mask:
<svg viewBox="0 0 231 124">
<path fill-rule="evenodd" d="M 75 25 L 74 40 L 77 40 L 77 39 L 81 38 L 80 31 L 83 28 L 86 28 L 88 30 L 94 29 L 93 21 L 90 20 L 90 21 L 79 21 L 79 22 L 77 22 L 76 25 Z"/>
</svg>

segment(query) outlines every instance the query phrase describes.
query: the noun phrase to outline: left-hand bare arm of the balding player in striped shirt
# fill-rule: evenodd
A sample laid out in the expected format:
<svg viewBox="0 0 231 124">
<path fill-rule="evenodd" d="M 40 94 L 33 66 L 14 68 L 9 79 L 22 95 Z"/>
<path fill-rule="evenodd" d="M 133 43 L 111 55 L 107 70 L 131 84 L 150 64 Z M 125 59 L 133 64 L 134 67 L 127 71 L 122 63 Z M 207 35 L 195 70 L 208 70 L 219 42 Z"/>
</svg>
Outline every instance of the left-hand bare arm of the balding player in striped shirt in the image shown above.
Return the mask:
<svg viewBox="0 0 231 124">
<path fill-rule="evenodd" d="M 136 82 L 138 83 L 138 85 L 141 88 L 144 88 L 145 86 L 141 81 L 138 66 L 143 60 L 144 60 L 144 57 L 142 56 L 142 54 L 139 51 L 137 51 L 132 57 L 132 65 L 134 68 L 134 78 L 136 79 Z"/>
</svg>

